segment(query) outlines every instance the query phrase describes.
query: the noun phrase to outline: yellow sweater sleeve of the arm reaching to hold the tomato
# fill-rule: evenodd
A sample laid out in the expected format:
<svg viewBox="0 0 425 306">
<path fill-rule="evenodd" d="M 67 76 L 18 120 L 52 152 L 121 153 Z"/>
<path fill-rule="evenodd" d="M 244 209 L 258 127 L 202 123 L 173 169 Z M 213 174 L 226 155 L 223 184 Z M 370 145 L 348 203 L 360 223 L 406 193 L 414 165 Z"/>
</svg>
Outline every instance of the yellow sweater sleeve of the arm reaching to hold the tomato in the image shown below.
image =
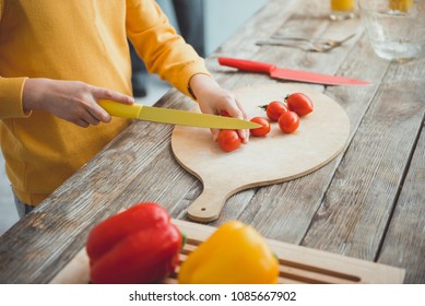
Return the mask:
<svg viewBox="0 0 425 306">
<path fill-rule="evenodd" d="M 127 35 L 149 72 L 156 73 L 187 96 L 194 74 L 211 75 L 204 60 L 186 44 L 152 0 L 127 0 Z"/>
</svg>

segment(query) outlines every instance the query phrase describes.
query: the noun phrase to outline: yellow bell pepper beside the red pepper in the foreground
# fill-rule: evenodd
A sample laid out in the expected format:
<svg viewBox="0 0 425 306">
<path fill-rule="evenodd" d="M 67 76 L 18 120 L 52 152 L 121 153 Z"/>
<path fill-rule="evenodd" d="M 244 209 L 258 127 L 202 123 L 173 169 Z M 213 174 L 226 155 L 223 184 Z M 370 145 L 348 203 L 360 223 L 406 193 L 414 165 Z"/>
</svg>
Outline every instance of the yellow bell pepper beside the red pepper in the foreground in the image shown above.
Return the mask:
<svg viewBox="0 0 425 306">
<path fill-rule="evenodd" d="M 220 226 L 181 263 L 182 284 L 275 284 L 279 261 L 265 239 L 239 221 Z"/>
</svg>

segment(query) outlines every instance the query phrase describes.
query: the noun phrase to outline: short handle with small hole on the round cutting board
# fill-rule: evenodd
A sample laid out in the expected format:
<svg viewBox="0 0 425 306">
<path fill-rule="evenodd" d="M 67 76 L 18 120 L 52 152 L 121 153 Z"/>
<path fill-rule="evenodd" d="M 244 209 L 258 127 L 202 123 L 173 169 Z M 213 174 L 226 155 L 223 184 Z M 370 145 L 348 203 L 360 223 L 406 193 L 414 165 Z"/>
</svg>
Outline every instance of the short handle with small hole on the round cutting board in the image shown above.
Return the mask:
<svg viewBox="0 0 425 306">
<path fill-rule="evenodd" d="M 217 220 L 228 192 L 223 187 L 205 187 L 202 193 L 188 207 L 188 216 L 197 222 L 212 222 Z"/>
</svg>

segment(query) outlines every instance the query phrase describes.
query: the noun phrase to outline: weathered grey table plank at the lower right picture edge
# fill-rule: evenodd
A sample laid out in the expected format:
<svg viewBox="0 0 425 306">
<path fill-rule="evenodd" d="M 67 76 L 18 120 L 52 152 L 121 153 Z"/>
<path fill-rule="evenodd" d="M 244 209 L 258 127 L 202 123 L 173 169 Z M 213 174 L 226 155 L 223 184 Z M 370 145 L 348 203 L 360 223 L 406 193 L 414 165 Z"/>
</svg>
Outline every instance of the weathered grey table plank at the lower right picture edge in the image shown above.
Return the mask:
<svg viewBox="0 0 425 306">
<path fill-rule="evenodd" d="M 417 97 L 425 103 L 424 96 Z M 378 261 L 408 268 L 405 283 L 425 283 L 425 129 L 418 139 Z"/>
</svg>

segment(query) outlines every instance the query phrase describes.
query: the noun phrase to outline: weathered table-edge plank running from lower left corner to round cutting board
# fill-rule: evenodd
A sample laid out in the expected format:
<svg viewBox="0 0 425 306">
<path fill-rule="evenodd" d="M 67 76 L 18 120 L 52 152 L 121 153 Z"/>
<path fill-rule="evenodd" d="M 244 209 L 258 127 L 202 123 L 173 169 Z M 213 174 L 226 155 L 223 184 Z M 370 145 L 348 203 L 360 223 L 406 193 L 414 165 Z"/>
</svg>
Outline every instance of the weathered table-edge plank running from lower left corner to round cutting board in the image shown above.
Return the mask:
<svg viewBox="0 0 425 306">
<path fill-rule="evenodd" d="M 193 102 L 170 92 L 158 106 L 190 109 Z M 2 235 L 0 270 L 7 272 L 0 273 L 0 283 L 46 282 L 81 249 L 93 224 L 138 201 L 156 200 L 167 209 L 179 203 L 194 178 L 173 158 L 172 130 L 168 125 L 134 122 Z M 166 188 L 172 188 L 169 193 Z"/>
</svg>

